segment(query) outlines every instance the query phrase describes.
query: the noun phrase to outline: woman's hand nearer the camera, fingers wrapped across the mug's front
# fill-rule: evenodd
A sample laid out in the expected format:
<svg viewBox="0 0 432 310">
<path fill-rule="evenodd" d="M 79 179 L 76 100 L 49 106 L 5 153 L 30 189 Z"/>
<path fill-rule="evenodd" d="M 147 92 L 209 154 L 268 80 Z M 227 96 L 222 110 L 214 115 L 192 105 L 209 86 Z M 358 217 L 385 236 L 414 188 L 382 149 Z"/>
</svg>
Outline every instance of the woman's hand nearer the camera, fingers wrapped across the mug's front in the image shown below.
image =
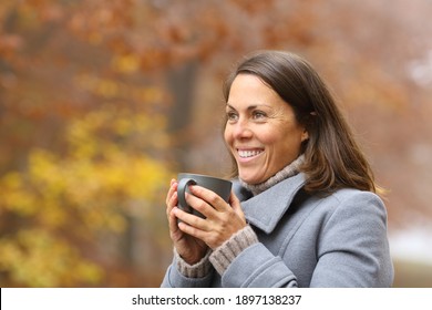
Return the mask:
<svg viewBox="0 0 432 310">
<path fill-rule="evenodd" d="M 216 249 L 235 232 L 246 227 L 240 202 L 233 192 L 228 203 L 202 186 L 192 185 L 189 192 L 192 195 L 186 194 L 187 204 L 206 218 L 203 219 L 174 208 L 173 214 L 182 220 L 178 224 L 181 231 L 203 240 L 208 247 Z"/>
</svg>

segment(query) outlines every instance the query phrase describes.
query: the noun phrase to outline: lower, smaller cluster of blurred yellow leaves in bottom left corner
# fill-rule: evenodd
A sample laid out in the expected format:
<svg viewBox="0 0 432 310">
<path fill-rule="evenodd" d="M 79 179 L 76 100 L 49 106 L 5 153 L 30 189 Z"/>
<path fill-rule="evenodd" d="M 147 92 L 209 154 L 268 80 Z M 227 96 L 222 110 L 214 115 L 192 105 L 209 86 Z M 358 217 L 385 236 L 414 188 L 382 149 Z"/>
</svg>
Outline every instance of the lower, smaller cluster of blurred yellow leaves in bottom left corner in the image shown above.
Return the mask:
<svg viewBox="0 0 432 310">
<path fill-rule="evenodd" d="M 103 272 L 64 240 L 41 229 L 23 229 L 16 239 L 0 239 L 0 270 L 18 286 L 62 287 L 96 283 Z"/>
</svg>

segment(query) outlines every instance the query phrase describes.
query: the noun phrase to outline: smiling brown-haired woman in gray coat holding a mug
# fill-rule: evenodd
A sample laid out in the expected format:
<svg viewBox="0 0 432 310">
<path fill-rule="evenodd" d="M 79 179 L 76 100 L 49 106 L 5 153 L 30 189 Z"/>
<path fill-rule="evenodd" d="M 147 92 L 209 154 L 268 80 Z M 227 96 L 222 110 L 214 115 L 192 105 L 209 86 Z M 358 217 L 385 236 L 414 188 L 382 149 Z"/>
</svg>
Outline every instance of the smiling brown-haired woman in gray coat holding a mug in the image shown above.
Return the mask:
<svg viewBox="0 0 432 310">
<path fill-rule="evenodd" d="M 191 186 L 166 197 L 174 260 L 163 287 L 390 287 L 387 211 L 328 87 L 304 59 L 263 51 L 224 89 L 228 204 Z M 181 223 L 177 225 L 177 218 Z"/>
</svg>

